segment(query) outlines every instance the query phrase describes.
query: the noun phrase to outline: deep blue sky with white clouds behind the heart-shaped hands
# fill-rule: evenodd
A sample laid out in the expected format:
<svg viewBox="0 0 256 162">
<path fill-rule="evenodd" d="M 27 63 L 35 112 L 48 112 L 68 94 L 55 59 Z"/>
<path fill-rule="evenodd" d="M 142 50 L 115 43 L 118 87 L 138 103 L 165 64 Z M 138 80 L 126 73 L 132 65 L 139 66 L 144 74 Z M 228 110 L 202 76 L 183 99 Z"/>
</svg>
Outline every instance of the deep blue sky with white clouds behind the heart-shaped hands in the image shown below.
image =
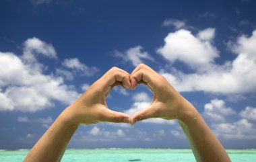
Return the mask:
<svg viewBox="0 0 256 162">
<path fill-rule="evenodd" d="M 30 149 L 111 67 L 166 77 L 227 149 L 256 148 L 256 2 L 0 1 L 0 149 Z M 115 87 L 108 108 L 146 108 Z M 80 126 L 69 148 L 189 148 L 175 120 Z"/>
</svg>

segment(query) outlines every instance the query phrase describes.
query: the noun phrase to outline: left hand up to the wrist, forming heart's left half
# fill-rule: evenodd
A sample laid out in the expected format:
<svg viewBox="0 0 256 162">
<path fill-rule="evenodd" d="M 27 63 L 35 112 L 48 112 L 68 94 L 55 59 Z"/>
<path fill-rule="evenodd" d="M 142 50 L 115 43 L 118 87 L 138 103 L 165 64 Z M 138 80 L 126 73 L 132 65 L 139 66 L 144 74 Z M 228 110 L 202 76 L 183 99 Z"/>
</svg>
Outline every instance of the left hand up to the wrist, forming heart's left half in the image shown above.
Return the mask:
<svg viewBox="0 0 256 162">
<path fill-rule="evenodd" d="M 130 122 L 130 116 L 108 109 L 106 97 L 113 87 L 121 85 L 130 88 L 130 75 L 113 67 L 77 99 L 67 111 L 74 124 L 96 124 L 97 122 Z"/>
</svg>

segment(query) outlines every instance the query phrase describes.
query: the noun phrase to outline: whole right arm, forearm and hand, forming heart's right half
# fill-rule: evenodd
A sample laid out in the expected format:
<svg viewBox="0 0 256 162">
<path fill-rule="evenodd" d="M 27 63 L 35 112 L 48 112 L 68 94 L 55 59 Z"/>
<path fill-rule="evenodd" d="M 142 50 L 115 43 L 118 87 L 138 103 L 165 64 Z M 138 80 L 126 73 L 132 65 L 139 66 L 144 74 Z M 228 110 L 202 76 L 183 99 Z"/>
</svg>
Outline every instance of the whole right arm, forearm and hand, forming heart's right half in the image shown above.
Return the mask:
<svg viewBox="0 0 256 162">
<path fill-rule="evenodd" d="M 230 161 L 220 141 L 201 118 L 197 110 L 182 95 L 146 65 L 131 73 L 131 89 L 137 84 L 148 85 L 154 93 L 151 105 L 131 117 L 131 124 L 148 118 L 177 119 L 185 132 L 197 161 Z"/>
</svg>

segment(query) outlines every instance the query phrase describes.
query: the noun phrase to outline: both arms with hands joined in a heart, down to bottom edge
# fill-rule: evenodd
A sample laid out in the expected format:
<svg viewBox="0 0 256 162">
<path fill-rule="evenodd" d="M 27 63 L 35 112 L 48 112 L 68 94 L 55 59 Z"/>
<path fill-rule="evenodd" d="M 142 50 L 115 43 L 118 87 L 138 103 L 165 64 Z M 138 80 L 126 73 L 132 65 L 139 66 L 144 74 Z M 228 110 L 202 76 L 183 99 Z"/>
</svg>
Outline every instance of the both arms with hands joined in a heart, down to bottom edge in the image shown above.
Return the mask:
<svg viewBox="0 0 256 162">
<path fill-rule="evenodd" d="M 133 116 L 108 109 L 106 97 L 113 87 L 121 85 L 124 88 L 135 89 L 141 83 L 147 85 L 154 94 L 148 108 L 133 114 Z M 45 161 L 44 157 L 51 159 L 46 161 L 59 161 L 79 124 L 89 125 L 97 122 L 135 124 L 139 120 L 148 118 L 179 119 L 185 134 L 189 138 L 189 143 L 197 161 L 213 161 L 216 157 L 218 157 L 216 158 L 217 161 L 218 159 L 220 161 L 230 161 L 226 151 L 195 108 L 164 77 L 143 64 L 136 67 L 131 75 L 117 67 L 110 69 L 61 114 L 30 151 L 30 155 L 26 158 L 28 161 L 34 161 L 34 159 Z M 187 116 L 187 114 L 189 115 Z M 194 115 L 199 116 L 197 124 L 194 123 L 193 119 L 197 119 Z M 58 148 L 56 149 L 56 147 Z M 49 148 L 55 149 L 54 153 L 52 153 L 53 149 Z M 51 153 L 46 152 L 49 150 Z"/>
</svg>

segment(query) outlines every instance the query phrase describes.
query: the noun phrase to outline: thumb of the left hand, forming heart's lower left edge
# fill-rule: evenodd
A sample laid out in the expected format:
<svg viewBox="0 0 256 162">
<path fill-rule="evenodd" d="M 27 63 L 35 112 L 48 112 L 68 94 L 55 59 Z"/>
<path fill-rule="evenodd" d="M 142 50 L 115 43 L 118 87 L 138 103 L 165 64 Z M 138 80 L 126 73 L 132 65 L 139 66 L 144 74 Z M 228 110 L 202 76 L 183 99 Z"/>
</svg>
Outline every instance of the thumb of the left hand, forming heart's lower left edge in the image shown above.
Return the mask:
<svg viewBox="0 0 256 162">
<path fill-rule="evenodd" d="M 102 122 L 125 122 L 130 123 L 131 117 L 123 112 L 115 112 L 110 109 L 106 109 L 102 114 Z"/>
</svg>

